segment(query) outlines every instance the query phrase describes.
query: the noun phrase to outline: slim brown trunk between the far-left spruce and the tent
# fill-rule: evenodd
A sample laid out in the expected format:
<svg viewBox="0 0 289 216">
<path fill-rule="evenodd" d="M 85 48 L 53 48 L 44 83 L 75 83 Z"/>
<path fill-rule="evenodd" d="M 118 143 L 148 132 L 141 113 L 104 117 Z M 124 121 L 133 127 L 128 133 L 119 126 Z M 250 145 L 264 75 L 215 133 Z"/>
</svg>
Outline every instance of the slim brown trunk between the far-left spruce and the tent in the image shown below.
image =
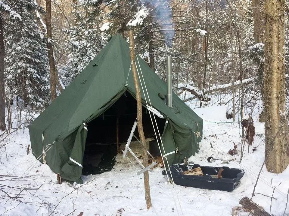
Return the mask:
<svg viewBox="0 0 289 216">
<path fill-rule="evenodd" d="M 50 68 L 50 91 L 51 91 L 51 101 L 56 98 L 56 67 L 54 64 L 53 56 L 53 46 L 52 42 L 52 28 L 51 28 L 51 0 L 46 0 L 46 31 L 47 31 L 47 49 L 48 49 L 48 60 Z"/>
</svg>

